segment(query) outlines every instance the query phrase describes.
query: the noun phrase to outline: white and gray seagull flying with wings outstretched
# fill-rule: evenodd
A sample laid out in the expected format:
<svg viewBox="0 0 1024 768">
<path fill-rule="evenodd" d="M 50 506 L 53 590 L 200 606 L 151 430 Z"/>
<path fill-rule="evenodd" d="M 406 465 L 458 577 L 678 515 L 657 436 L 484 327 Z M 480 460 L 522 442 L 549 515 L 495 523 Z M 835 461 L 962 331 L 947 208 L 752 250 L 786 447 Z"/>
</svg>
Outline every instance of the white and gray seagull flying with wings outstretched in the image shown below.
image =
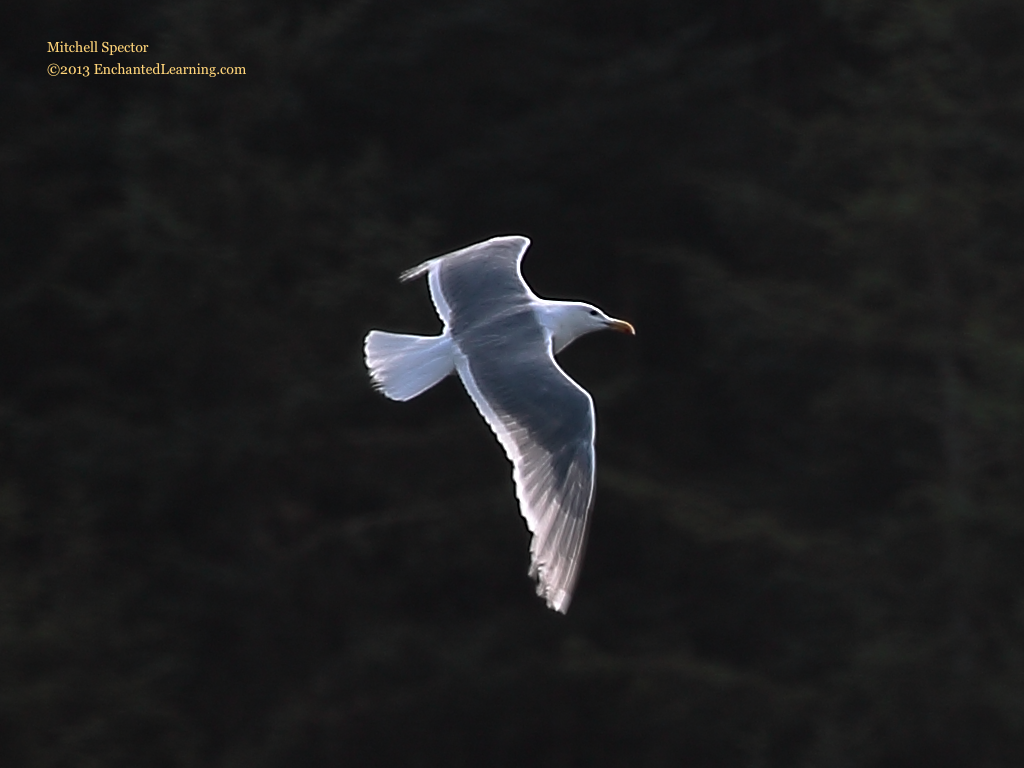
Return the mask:
<svg viewBox="0 0 1024 768">
<path fill-rule="evenodd" d="M 594 505 L 594 401 L 555 361 L 575 339 L 626 321 L 579 301 L 539 298 L 522 279 L 529 240 L 492 238 L 402 272 L 427 275 L 439 336 L 371 331 L 364 351 L 375 388 L 409 400 L 458 374 L 512 462 L 532 534 L 529 575 L 564 613 L 580 575 Z"/>
</svg>

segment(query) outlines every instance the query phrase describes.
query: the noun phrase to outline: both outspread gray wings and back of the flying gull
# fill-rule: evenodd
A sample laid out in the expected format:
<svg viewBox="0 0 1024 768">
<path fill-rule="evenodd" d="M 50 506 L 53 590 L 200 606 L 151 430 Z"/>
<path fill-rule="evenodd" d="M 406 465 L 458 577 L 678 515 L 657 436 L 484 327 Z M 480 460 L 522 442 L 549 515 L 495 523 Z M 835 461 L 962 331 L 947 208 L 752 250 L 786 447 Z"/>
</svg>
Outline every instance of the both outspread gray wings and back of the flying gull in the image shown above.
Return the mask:
<svg viewBox="0 0 1024 768">
<path fill-rule="evenodd" d="M 558 367 L 519 270 L 529 241 L 495 238 L 409 270 L 430 293 L 455 342 L 456 370 L 512 462 L 534 535 L 530 575 L 565 612 L 594 503 L 594 403 Z"/>
</svg>

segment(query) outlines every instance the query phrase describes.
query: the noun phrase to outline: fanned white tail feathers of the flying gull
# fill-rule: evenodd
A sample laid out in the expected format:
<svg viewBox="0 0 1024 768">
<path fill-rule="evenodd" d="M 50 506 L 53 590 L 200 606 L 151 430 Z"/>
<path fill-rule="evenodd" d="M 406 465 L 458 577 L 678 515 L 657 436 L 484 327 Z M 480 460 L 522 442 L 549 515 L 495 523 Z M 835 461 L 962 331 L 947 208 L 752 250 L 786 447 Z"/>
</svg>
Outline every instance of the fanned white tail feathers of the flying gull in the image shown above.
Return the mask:
<svg viewBox="0 0 1024 768">
<path fill-rule="evenodd" d="M 452 340 L 371 331 L 364 345 L 374 386 L 392 400 L 411 400 L 455 373 Z"/>
</svg>

